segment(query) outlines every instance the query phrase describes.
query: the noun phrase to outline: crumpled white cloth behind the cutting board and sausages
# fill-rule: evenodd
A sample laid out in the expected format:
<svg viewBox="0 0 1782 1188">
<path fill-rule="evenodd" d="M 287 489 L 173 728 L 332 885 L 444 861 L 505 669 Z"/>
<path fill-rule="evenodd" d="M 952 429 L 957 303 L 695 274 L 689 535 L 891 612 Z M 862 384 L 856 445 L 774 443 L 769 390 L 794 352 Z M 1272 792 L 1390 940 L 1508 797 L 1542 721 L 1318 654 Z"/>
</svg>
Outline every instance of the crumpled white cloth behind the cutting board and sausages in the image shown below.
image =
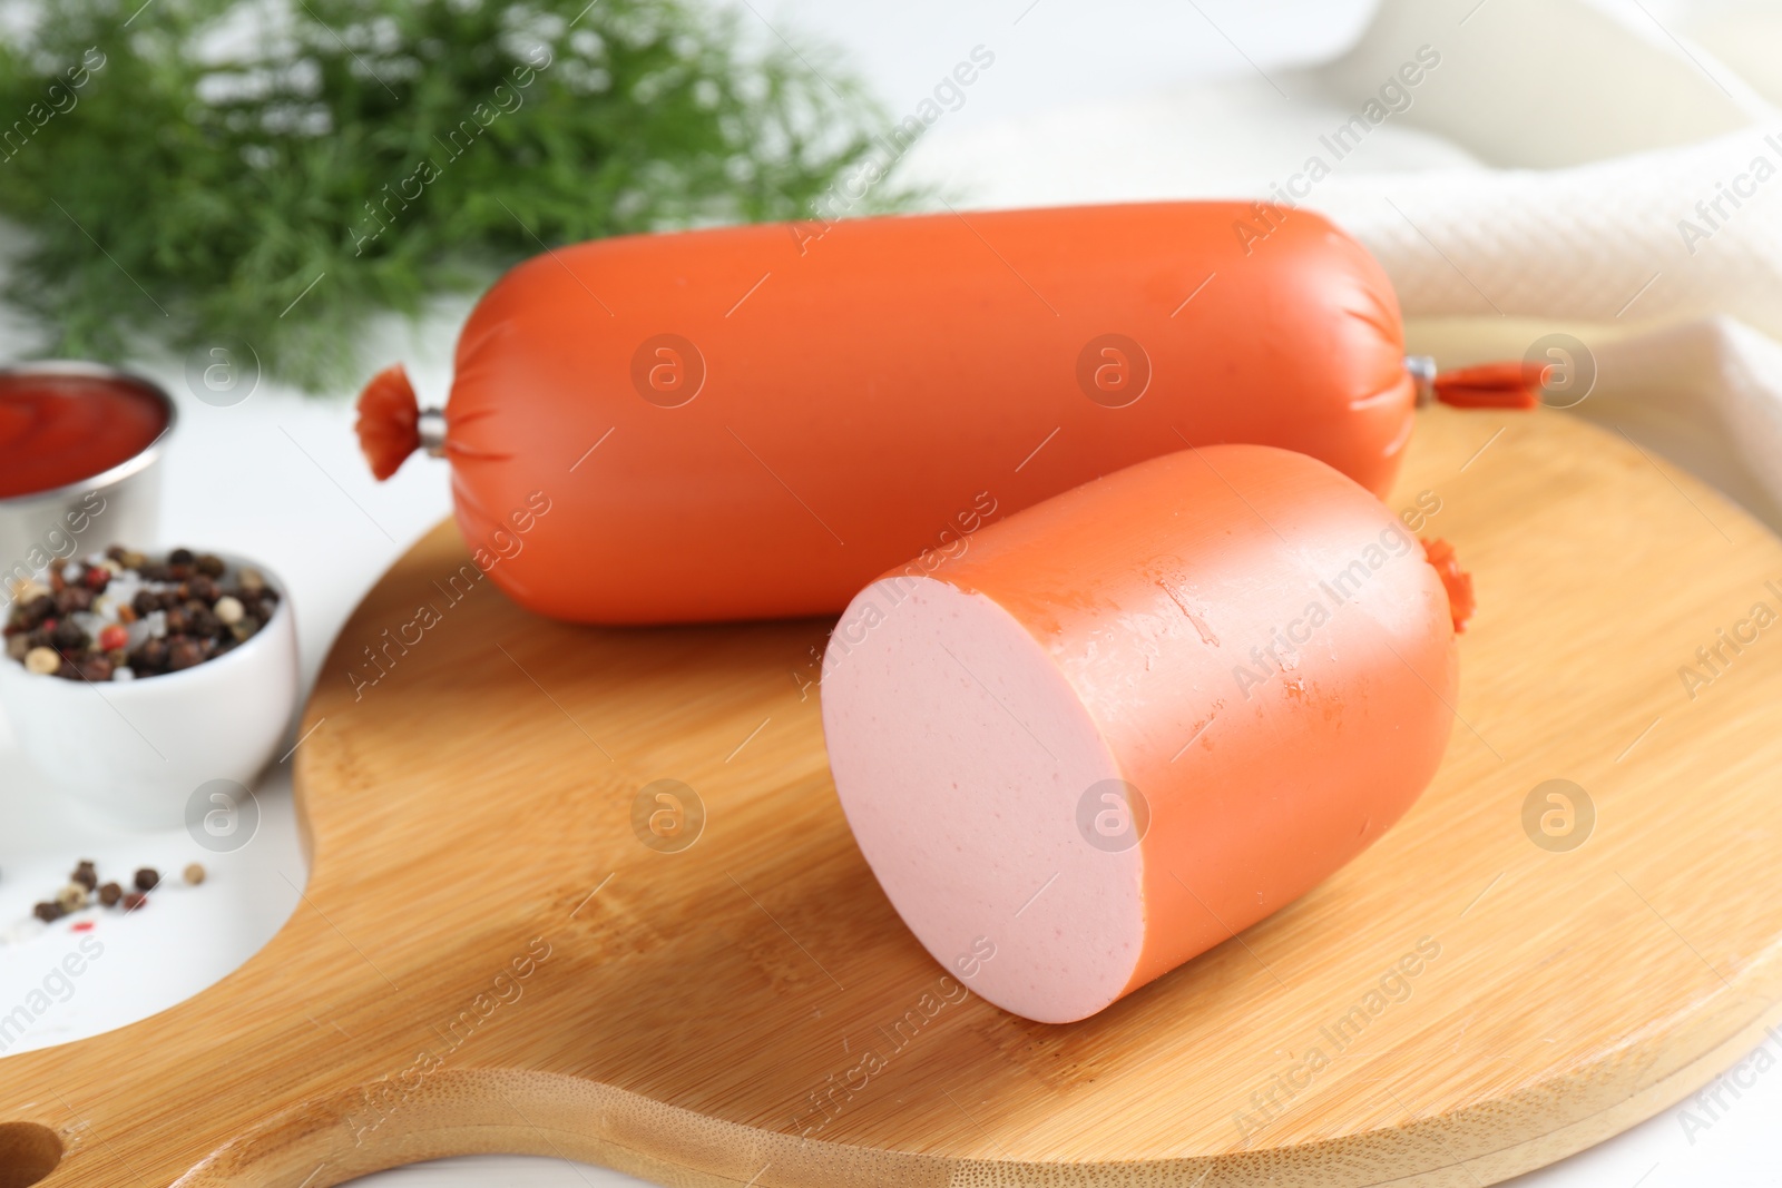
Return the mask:
<svg viewBox="0 0 1782 1188">
<path fill-rule="evenodd" d="M 1320 68 L 941 134 L 911 164 L 978 207 L 1292 185 L 1381 260 L 1413 351 L 1570 333 L 1597 367 L 1579 415 L 1782 531 L 1778 61 L 1775 5 L 1385 0 Z"/>
</svg>

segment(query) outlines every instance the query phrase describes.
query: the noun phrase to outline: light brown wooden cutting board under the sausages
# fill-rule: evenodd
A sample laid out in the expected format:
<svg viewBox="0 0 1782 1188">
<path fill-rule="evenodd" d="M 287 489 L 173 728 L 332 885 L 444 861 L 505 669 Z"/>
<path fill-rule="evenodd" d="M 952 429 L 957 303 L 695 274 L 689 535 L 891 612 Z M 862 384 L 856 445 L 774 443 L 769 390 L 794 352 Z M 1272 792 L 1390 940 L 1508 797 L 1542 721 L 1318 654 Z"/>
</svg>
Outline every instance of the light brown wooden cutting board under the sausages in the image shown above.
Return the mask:
<svg viewBox="0 0 1782 1188">
<path fill-rule="evenodd" d="M 0 1188 L 495 1151 L 684 1186 L 1481 1184 L 1614 1135 L 1782 1015 L 1782 627 L 1750 620 L 1782 547 L 1554 413 L 1424 413 L 1394 508 L 1420 493 L 1481 604 L 1435 784 L 1071 1026 L 955 992 L 880 894 L 823 762 L 825 623 L 551 623 L 442 525 L 305 714 L 290 923 L 0 1062 Z"/>
</svg>

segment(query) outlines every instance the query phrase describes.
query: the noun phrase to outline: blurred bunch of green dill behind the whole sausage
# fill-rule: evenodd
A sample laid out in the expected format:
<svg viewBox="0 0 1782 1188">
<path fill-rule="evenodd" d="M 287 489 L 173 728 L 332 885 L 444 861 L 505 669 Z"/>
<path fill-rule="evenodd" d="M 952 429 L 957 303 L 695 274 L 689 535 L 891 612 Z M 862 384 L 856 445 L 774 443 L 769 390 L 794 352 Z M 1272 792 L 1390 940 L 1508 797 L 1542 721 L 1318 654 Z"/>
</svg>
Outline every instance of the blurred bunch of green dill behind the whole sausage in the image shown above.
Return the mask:
<svg viewBox="0 0 1782 1188">
<path fill-rule="evenodd" d="M 364 378 L 358 335 L 545 246 L 809 217 L 882 112 L 683 0 L 32 0 L 0 45 L 7 299 L 45 353 L 246 340 Z M 763 41 L 756 37 L 756 41 Z M 822 66 L 813 62 L 822 61 Z M 907 196 L 880 183 L 861 207 Z"/>
</svg>

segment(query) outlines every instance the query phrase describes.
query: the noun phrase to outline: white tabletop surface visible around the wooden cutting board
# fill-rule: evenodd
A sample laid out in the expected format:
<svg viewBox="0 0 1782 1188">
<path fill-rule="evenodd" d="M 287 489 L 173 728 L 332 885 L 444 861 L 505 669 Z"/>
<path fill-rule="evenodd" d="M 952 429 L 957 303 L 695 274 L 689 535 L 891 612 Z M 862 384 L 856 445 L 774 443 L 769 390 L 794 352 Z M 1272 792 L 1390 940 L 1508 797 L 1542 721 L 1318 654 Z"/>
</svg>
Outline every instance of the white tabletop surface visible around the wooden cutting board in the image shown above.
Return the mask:
<svg viewBox="0 0 1782 1188">
<path fill-rule="evenodd" d="M 1675 5 L 1654 7 L 1668 14 Z M 1130 148 L 1135 128 L 1180 125 L 1183 110 L 1196 110 L 1198 94 L 1262 94 L 1263 73 L 1333 55 L 1361 32 L 1369 9 L 1365 0 L 1276 5 L 911 0 L 871 9 L 754 0 L 750 20 L 764 43 L 777 43 L 777 32 L 797 36 L 804 28 L 846 46 L 896 116 L 914 109 L 975 46 L 987 46 L 996 55 L 994 66 L 966 91 L 957 110 L 936 123 L 909 162 L 918 175 L 939 178 L 960 203 L 969 203 L 973 192 L 980 201 L 984 194 L 1023 201 L 1023 196 L 1073 192 L 1057 160 L 1010 162 L 1005 153 L 994 178 L 973 176 L 971 162 L 994 159 L 998 144 L 1030 141 L 1035 121 L 1091 144 L 1105 132 L 1108 144 Z M 832 53 L 800 48 L 818 69 L 834 68 Z M 1262 110 L 1247 118 L 1226 105 L 1219 109 L 1224 121 L 1219 126 L 1189 119 L 1181 139 L 1110 162 L 1114 176 L 1124 178 L 1116 180 L 1116 189 L 1124 185 L 1130 196 L 1244 187 L 1258 192 L 1281 160 L 1290 160 L 1287 153 L 1296 144 L 1296 137 L 1271 135 L 1290 118 L 1267 110 L 1271 103 L 1265 98 Z M 1372 151 L 1385 166 L 1399 167 L 1461 157 L 1413 134 L 1397 141 L 1381 137 Z M 1180 153 L 1205 159 L 1183 162 Z M 1075 159 L 1092 157 L 1085 144 L 1075 146 Z M 371 358 L 405 360 L 422 401 L 442 401 L 451 342 L 465 308 L 465 301 L 442 306 L 417 335 L 394 324 L 380 328 Z M 16 335 L 0 330 L 0 340 L 5 338 Z M 305 673 L 314 679 L 330 639 L 364 591 L 449 511 L 444 467 L 415 458 L 394 481 L 376 484 L 358 456 L 344 401 L 303 399 L 262 385 L 242 404 L 212 408 L 184 390 L 178 360 L 146 360 L 141 369 L 180 397 L 182 426 L 166 461 L 162 543 L 241 552 L 278 572 L 290 588 Z M 20 1001 L 71 948 L 66 928 L 39 930 L 12 921 L 29 917 L 34 899 L 66 882 L 77 858 L 94 858 L 107 878 L 137 866 L 171 875 L 191 860 L 201 860 L 210 873 L 201 887 L 169 887 L 153 896 L 150 910 L 127 921 L 102 917 L 93 935 L 107 946 L 103 958 L 11 1051 L 94 1035 L 155 1013 L 217 981 L 266 944 L 296 907 L 305 880 L 289 762 L 274 764 L 257 798 L 258 832 L 230 853 L 205 851 L 184 830 L 151 835 L 110 830 L 84 819 L 45 787 L 23 766 L 0 721 L 0 812 L 5 814 L 0 1005 Z M 1638 987 L 1629 992 L 1638 994 Z M 1770 1056 L 1782 1065 L 1782 1040 L 1771 1044 Z M 1686 1103 L 1518 1183 L 1629 1188 L 1775 1183 L 1773 1168 L 1782 1156 L 1771 1120 L 1782 1113 L 1782 1072 L 1759 1072 L 1753 1081 L 1736 1101 L 1727 1094 L 1730 1108 L 1713 1117 Z M 1695 1122 L 1686 1126 L 1689 1119 Z M 1702 1120 L 1709 1126 L 1700 1126 Z M 1768 1179 L 1761 1181 L 1762 1176 Z M 558 1160 L 501 1156 L 419 1165 L 360 1183 L 558 1188 L 636 1181 Z"/>
</svg>

